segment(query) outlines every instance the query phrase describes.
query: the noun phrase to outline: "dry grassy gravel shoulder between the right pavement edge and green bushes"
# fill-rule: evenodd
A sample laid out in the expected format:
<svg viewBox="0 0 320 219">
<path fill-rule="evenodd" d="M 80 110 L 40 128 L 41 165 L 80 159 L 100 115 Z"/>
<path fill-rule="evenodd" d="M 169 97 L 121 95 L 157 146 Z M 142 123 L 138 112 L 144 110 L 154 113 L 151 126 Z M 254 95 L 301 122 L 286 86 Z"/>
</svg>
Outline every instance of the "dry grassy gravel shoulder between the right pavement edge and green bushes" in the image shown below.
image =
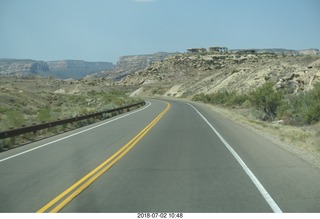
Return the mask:
<svg viewBox="0 0 320 219">
<path fill-rule="evenodd" d="M 200 104 L 320 168 L 320 123 L 312 126 L 294 127 L 257 120 L 250 116 L 249 109 Z"/>
</svg>

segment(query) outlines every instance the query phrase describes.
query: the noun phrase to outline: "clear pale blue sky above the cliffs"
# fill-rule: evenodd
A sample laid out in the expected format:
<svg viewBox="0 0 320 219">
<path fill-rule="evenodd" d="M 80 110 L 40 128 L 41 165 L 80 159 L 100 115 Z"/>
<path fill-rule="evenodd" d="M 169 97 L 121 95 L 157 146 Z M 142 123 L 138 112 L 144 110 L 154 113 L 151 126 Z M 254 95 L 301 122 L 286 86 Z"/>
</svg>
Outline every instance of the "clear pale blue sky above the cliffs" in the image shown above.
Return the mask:
<svg viewBox="0 0 320 219">
<path fill-rule="evenodd" d="M 320 49 L 320 0 L 0 0 L 0 58 Z"/>
</svg>

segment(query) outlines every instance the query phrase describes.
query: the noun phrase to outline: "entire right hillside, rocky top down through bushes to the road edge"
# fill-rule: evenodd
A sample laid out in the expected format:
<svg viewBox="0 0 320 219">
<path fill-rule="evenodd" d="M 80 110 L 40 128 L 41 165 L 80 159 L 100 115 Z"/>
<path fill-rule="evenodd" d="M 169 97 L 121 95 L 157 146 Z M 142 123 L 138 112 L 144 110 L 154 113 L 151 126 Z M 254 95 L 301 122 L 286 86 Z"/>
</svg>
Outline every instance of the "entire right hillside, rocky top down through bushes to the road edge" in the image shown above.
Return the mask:
<svg viewBox="0 0 320 219">
<path fill-rule="evenodd" d="M 206 103 L 213 111 L 319 164 L 318 50 L 194 51 L 169 56 L 118 84 L 139 86 L 131 96 Z"/>
</svg>

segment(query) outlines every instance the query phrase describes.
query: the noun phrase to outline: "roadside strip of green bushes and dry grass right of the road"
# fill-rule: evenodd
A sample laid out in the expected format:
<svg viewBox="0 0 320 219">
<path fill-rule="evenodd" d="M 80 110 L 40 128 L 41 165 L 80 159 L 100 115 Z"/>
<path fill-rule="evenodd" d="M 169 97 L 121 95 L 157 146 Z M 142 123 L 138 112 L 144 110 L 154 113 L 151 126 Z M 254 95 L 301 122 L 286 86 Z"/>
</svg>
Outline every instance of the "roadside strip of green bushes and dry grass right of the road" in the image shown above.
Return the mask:
<svg viewBox="0 0 320 219">
<path fill-rule="evenodd" d="M 214 111 L 320 166 L 319 82 L 299 93 L 277 91 L 266 82 L 246 94 L 224 90 L 197 94 L 192 100 L 210 104 Z"/>
</svg>

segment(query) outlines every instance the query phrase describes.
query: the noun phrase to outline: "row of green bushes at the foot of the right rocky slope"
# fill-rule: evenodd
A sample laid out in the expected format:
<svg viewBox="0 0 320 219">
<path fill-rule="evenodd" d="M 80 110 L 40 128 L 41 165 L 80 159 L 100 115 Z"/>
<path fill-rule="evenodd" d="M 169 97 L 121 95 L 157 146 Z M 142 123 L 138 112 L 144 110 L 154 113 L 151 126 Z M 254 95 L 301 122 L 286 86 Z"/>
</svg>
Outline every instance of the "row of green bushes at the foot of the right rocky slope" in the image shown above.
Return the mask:
<svg viewBox="0 0 320 219">
<path fill-rule="evenodd" d="M 212 94 L 200 93 L 193 101 L 225 106 L 254 107 L 254 115 L 262 120 L 282 119 L 289 125 L 310 125 L 320 121 L 320 83 L 314 89 L 298 93 L 283 94 L 266 82 L 250 94 L 219 91 Z"/>
</svg>

